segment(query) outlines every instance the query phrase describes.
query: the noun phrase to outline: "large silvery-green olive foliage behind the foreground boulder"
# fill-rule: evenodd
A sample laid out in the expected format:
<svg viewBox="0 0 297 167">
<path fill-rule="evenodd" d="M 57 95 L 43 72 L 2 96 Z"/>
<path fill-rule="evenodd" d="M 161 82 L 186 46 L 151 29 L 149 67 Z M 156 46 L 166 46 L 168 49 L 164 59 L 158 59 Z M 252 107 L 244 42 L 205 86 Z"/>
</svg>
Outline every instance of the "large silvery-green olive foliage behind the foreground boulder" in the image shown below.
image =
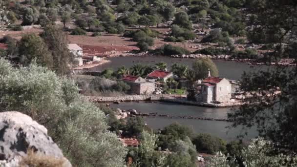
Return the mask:
<svg viewBox="0 0 297 167">
<path fill-rule="evenodd" d="M 20 111 L 44 125 L 74 166 L 124 166 L 125 147 L 74 82 L 36 63 L 13 68 L 0 59 L 0 90 L 0 110 Z"/>
</svg>

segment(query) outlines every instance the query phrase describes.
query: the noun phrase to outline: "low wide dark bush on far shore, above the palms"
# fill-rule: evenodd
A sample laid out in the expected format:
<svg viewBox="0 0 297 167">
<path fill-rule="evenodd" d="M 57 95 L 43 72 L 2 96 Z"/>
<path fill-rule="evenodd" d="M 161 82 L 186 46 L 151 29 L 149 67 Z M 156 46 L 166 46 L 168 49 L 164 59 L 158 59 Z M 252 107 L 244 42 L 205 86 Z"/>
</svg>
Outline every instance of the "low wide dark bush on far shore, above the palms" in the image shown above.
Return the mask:
<svg viewBox="0 0 297 167">
<path fill-rule="evenodd" d="M 171 44 L 165 44 L 162 47 L 159 47 L 153 51 L 154 54 L 158 55 L 188 55 L 191 52 L 185 48 L 179 47 L 179 46 L 173 46 Z"/>
</svg>

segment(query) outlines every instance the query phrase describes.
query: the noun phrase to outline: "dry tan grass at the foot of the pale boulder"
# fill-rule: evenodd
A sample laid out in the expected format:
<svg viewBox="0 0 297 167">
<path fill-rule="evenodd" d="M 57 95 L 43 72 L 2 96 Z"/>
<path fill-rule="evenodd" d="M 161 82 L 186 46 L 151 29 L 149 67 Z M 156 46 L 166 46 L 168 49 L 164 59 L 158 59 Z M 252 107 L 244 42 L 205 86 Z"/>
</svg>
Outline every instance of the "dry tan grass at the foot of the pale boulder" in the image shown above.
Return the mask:
<svg viewBox="0 0 297 167">
<path fill-rule="evenodd" d="M 65 167 L 65 164 L 65 159 L 46 156 L 29 150 L 27 156 L 21 159 L 20 167 Z"/>
</svg>

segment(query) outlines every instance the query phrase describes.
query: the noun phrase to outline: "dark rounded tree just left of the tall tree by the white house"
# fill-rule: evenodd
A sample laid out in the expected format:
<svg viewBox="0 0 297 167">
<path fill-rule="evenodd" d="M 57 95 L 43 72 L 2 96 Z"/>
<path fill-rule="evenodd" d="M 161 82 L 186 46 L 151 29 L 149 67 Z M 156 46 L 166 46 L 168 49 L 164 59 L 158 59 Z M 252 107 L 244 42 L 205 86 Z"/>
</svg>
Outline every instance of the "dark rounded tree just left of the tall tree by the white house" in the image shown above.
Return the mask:
<svg viewBox="0 0 297 167">
<path fill-rule="evenodd" d="M 36 63 L 49 69 L 53 66 L 53 58 L 42 38 L 35 34 L 24 35 L 17 44 L 20 62 L 28 66 L 34 59 Z"/>
</svg>

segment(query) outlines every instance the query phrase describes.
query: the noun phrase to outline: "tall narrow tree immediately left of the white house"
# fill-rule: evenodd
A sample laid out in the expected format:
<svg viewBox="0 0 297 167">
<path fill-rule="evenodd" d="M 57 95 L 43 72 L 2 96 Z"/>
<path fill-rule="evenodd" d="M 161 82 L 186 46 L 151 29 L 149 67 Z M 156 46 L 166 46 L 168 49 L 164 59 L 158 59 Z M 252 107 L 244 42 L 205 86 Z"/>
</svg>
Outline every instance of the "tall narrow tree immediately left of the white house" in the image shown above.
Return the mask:
<svg viewBox="0 0 297 167">
<path fill-rule="evenodd" d="M 44 28 L 41 37 L 52 52 L 52 69 L 59 75 L 67 74 L 69 72 L 68 65 L 73 61 L 73 55 L 67 48 L 67 36 L 62 29 L 50 25 Z"/>
</svg>

